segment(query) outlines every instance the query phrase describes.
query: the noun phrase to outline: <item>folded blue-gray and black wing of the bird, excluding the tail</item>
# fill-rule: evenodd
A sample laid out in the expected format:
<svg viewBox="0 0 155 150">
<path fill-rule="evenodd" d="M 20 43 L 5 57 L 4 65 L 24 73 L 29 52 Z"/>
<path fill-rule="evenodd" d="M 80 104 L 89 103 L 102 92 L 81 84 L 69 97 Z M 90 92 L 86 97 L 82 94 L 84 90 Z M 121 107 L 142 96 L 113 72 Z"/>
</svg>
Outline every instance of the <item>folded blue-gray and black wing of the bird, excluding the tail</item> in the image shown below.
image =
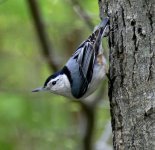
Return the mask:
<svg viewBox="0 0 155 150">
<path fill-rule="evenodd" d="M 76 63 L 74 67 L 72 94 L 76 98 L 82 97 L 91 82 L 95 62 L 94 47 L 90 42 L 84 42 L 74 53 L 72 59 Z"/>
</svg>

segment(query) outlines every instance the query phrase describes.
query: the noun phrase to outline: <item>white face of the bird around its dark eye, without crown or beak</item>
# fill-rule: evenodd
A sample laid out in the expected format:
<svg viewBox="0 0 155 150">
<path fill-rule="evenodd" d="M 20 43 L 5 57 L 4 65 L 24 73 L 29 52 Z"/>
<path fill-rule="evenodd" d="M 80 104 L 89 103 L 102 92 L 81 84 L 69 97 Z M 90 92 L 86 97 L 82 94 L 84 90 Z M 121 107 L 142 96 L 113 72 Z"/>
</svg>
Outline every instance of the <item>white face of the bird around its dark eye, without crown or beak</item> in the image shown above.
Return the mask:
<svg viewBox="0 0 155 150">
<path fill-rule="evenodd" d="M 68 78 L 64 74 L 59 75 L 54 79 L 51 79 L 47 83 L 46 90 L 63 96 L 70 97 L 71 95 L 70 83 Z"/>
</svg>

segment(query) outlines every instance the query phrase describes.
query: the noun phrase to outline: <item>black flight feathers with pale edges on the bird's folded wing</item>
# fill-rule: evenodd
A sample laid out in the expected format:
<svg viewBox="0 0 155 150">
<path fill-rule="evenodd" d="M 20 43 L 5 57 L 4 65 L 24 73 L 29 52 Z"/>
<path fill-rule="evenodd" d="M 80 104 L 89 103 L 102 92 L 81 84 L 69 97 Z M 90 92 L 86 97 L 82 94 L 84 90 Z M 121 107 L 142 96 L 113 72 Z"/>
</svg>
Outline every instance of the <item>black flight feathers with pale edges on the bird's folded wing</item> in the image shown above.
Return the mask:
<svg viewBox="0 0 155 150">
<path fill-rule="evenodd" d="M 79 75 L 81 79 L 79 82 L 79 91 L 76 91 L 76 96 L 81 97 L 86 92 L 93 75 L 95 51 L 92 44 L 85 42 L 83 47 L 78 49 L 74 54 L 74 59 L 79 64 Z"/>
</svg>

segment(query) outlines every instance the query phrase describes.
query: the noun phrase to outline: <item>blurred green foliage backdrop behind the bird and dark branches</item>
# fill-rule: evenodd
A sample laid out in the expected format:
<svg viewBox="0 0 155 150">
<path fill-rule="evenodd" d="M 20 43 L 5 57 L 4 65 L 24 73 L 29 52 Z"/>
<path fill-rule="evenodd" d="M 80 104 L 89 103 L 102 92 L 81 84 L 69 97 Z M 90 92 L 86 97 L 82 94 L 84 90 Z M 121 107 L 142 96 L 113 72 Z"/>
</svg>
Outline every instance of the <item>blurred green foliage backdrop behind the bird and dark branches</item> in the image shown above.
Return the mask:
<svg viewBox="0 0 155 150">
<path fill-rule="evenodd" d="M 63 66 L 91 30 L 70 0 L 38 0 L 46 31 Z M 97 0 L 79 1 L 98 24 Z M 32 93 L 52 73 L 26 0 L 0 0 L 0 150 L 76 150 L 80 106 L 51 93 Z M 109 120 L 108 101 L 97 109 L 95 141 Z M 94 143 L 95 143 L 94 141 Z"/>
</svg>

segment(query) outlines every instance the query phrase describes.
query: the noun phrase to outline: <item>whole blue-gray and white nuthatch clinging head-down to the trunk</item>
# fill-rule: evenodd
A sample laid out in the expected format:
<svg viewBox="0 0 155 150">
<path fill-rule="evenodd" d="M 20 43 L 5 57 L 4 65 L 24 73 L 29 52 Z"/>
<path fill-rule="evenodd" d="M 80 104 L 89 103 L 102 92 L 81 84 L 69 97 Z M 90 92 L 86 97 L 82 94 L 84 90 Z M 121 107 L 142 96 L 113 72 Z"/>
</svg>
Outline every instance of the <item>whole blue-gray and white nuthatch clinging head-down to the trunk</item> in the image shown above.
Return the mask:
<svg viewBox="0 0 155 150">
<path fill-rule="evenodd" d="M 64 67 L 32 92 L 49 91 L 72 99 L 85 99 L 91 95 L 106 75 L 102 38 L 107 36 L 108 28 L 109 17 L 106 17 L 79 45 Z"/>
</svg>

